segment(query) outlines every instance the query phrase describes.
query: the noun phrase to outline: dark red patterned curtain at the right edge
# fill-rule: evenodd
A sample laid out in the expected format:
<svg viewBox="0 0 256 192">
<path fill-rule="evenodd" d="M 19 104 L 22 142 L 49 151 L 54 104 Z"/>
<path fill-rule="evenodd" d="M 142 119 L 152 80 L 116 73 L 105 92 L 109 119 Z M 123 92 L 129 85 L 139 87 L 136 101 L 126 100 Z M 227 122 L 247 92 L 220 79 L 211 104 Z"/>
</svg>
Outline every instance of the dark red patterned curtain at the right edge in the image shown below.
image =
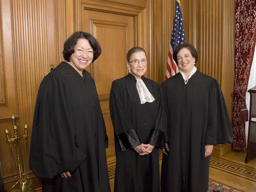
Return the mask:
<svg viewBox="0 0 256 192">
<path fill-rule="evenodd" d="M 256 1 L 236 0 L 235 75 L 232 127 L 233 150 L 246 150 L 245 122 L 248 121 L 246 92 L 256 39 Z"/>
</svg>

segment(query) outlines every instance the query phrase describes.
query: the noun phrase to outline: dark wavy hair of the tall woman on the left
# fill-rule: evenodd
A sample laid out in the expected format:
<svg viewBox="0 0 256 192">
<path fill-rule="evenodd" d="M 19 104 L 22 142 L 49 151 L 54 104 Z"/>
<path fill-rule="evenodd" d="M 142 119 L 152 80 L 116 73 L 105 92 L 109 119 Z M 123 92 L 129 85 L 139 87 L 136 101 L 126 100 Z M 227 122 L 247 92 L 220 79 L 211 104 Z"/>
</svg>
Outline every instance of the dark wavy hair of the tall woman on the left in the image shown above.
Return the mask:
<svg viewBox="0 0 256 192">
<path fill-rule="evenodd" d="M 74 32 L 64 43 L 63 57 L 67 62 L 70 62 L 70 56 L 75 52 L 74 48 L 78 39 L 87 39 L 91 45 L 92 50 L 94 50 L 94 62 L 101 54 L 101 48 L 98 41 L 90 33 L 83 31 Z"/>
</svg>

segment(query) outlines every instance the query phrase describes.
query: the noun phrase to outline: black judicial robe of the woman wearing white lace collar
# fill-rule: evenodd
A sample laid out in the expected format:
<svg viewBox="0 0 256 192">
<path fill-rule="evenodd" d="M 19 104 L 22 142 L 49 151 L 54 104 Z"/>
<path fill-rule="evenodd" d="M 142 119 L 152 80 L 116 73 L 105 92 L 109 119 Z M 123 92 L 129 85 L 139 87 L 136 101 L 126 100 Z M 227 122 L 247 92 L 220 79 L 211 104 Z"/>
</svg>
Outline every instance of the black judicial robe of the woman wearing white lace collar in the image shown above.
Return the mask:
<svg viewBox="0 0 256 192">
<path fill-rule="evenodd" d="M 141 104 L 136 79 L 129 74 L 112 83 L 110 113 L 115 135 L 115 192 L 159 191 L 159 150 L 164 146 L 166 117 L 160 86 L 142 77 L 155 98 Z M 152 153 L 140 156 L 133 148 L 141 143 L 154 145 Z"/>
</svg>

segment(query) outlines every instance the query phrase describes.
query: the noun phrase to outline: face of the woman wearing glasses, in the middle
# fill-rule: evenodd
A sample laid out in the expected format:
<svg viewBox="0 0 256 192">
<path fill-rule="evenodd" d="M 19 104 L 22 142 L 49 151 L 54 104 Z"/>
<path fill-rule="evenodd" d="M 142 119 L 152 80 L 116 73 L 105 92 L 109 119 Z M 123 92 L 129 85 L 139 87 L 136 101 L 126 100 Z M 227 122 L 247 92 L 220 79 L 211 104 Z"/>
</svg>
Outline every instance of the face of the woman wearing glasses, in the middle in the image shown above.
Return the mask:
<svg viewBox="0 0 256 192">
<path fill-rule="evenodd" d="M 136 63 L 136 61 L 139 62 Z M 133 53 L 127 66 L 130 67 L 136 79 L 141 79 L 147 70 L 147 57 L 145 53 L 143 51 Z"/>
</svg>

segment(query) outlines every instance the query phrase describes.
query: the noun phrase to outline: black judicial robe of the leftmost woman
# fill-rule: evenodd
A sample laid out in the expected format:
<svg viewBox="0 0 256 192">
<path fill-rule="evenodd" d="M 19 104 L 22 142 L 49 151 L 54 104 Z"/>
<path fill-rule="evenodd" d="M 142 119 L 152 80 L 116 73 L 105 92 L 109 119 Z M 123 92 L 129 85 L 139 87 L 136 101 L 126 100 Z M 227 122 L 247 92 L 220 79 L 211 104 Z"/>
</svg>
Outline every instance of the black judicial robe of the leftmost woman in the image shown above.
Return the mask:
<svg viewBox="0 0 256 192">
<path fill-rule="evenodd" d="M 62 62 L 44 77 L 38 91 L 31 170 L 43 178 L 46 191 L 110 191 L 107 146 L 94 80 L 86 70 L 82 78 Z M 72 176 L 62 178 L 60 173 L 66 171 Z"/>
</svg>

